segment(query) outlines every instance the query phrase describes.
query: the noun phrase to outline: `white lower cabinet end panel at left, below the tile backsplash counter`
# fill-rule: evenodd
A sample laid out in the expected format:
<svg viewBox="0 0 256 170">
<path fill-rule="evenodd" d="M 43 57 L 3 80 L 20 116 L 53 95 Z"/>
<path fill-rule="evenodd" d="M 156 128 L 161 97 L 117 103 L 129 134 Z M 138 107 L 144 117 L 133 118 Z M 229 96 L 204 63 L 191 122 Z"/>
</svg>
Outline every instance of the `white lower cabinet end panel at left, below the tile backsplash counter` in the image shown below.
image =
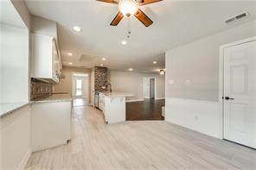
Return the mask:
<svg viewBox="0 0 256 170">
<path fill-rule="evenodd" d="M 71 102 L 35 103 L 31 109 L 32 152 L 71 139 Z"/>
</svg>

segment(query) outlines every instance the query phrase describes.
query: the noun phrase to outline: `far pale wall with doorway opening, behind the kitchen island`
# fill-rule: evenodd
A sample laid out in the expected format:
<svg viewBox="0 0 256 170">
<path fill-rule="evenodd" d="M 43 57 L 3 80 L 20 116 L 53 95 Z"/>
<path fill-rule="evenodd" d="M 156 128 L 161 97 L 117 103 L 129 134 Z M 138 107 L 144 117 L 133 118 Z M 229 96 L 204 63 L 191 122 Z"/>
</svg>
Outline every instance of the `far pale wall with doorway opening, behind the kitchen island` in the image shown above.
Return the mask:
<svg viewBox="0 0 256 170">
<path fill-rule="evenodd" d="M 164 75 L 158 74 L 111 71 L 112 91 L 130 92 L 135 95 L 134 97 L 127 98 L 127 100 L 143 100 L 144 77 L 156 78 L 156 98 L 164 98 Z"/>
</svg>

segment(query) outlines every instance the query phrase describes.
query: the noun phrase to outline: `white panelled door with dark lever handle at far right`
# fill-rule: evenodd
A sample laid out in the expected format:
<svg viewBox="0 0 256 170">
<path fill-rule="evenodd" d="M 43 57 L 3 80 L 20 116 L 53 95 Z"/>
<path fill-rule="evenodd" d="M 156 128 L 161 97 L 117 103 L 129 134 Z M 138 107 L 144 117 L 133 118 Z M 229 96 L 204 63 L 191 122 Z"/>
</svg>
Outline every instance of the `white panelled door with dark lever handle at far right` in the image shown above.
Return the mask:
<svg viewBox="0 0 256 170">
<path fill-rule="evenodd" d="M 224 49 L 224 138 L 256 148 L 256 41 Z"/>
</svg>

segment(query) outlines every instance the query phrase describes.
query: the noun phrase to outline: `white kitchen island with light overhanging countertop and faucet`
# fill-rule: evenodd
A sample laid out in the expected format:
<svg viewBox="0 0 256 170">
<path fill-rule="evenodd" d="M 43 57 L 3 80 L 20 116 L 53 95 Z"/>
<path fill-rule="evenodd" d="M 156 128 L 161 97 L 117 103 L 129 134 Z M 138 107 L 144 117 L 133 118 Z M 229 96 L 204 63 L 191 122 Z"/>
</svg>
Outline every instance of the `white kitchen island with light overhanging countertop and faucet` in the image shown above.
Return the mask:
<svg viewBox="0 0 256 170">
<path fill-rule="evenodd" d="M 99 109 L 106 123 L 125 121 L 125 98 L 134 96 L 127 92 L 99 92 Z"/>
</svg>

